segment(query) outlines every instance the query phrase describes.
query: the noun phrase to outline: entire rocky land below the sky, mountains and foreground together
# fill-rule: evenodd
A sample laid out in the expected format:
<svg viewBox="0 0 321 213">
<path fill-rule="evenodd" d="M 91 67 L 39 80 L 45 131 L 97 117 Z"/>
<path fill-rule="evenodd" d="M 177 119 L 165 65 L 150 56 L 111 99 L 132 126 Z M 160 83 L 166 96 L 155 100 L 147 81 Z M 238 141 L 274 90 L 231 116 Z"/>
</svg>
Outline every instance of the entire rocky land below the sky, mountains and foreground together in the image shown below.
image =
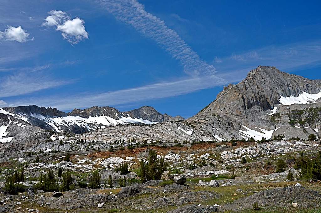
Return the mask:
<svg viewBox="0 0 321 213">
<path fill-rule="evenodd" d="M 186 120 L 0 108 L 0 212 L 320 212 L 320 83 L 260 66 Z"/>
</svg>

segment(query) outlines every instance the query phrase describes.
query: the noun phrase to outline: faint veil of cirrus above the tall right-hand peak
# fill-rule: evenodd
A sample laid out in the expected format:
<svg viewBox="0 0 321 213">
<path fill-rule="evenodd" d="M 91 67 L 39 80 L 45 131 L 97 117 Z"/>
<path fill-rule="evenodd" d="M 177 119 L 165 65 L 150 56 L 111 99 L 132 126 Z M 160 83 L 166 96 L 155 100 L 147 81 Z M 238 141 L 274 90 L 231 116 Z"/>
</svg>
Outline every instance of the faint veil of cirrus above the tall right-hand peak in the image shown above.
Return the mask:
<svg viewBox="0 0 321 213">
<path fill-rule="evenodd" d="M 315 64 L 321 64 L 321 40 L 267 46 L 241 54 L 233 53 L 230 57 L 222 58 L 222 63 L 216 64 L 216 68 L 220 75 L 226 75 L 227 78 L 230 71 L 248 72 L 258 65 L 275 66 L 283 71 L 291 71 Z"/>
</svg>

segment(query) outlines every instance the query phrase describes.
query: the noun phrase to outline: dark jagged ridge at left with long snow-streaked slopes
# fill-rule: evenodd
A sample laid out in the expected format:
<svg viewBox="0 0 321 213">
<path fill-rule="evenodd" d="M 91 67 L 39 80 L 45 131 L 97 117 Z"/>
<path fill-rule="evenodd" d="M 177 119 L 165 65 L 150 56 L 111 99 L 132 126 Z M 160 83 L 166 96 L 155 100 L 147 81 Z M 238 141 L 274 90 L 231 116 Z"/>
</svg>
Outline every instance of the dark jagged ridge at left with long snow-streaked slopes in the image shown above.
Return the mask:
<svg viewBox="0 0 321 213">
<path fill-rule="evenodd" d="M 45 130 L 56 132 L 70 131 L 74 133 L 84 133 L 96 129 L 104 129 L 108 126 L 123 125 L 130 123 L 157 124 L 164 120 L 166 116 L 149 107 L 149 113 L 142 117 L 135 117 L 127 112 L 120 112 L 113 107 L 91 107 L 88 109 L 74 109 L 70 113 L 65 113 L 56 108 L 45 108 L 37 106 L 22 106 L 0 108 L 0 113 L 11 115 L 21 119 L 33 126 Z M 143 114 L 146 107 L 136 109 L 137 114 Z M 157 116 L 155 116 L 157 115 Z M 168 116 L 168 115 L 167 115 Z M 4 135 L 5 126 L 1 127 L 1 135 Z"/>
</svg>

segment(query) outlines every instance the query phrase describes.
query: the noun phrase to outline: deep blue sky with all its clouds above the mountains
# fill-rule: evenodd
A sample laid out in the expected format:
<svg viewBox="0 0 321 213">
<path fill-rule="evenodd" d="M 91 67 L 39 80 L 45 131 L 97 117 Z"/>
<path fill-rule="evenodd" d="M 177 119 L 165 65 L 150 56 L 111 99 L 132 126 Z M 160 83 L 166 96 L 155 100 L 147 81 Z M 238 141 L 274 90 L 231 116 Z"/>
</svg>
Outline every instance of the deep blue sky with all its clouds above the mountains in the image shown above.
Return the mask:
<svg viewBox="0 0 321 213">
<path fill-rule="evenodd" d="M 259 65 L 320 79 L 320 6 L 2 0 L 0 107 L 149 105 L 187 118 Z"/>
</svg>

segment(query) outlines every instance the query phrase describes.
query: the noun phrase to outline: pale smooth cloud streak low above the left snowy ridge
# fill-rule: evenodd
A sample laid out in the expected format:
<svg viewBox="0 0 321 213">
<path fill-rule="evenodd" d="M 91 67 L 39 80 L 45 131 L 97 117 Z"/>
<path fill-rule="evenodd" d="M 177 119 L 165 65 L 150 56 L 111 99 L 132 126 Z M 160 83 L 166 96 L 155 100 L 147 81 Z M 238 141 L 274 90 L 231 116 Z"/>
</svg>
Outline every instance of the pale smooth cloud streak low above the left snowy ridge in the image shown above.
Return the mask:
<svg viewBox="0 0 321 213">
<path fill-rule="evenodd" d="M 177 81 L 160 82 L 142 87 L 109 91 L 99 94 L 82 93 L 68 96 L 50 96 L 43 98 L 19 99 L 10 106 L 36 104 L 38 106 L 57 107 L 60 110 L 86 108 L 92 106 L 115 106 L 137 103 L 144 100 L 167 98 L 187 94 L 200 89 L 220 86 L 213 77 L 196 77 Z M 65 97 L 65 98 L 64 98 Z"/>
</svg>

